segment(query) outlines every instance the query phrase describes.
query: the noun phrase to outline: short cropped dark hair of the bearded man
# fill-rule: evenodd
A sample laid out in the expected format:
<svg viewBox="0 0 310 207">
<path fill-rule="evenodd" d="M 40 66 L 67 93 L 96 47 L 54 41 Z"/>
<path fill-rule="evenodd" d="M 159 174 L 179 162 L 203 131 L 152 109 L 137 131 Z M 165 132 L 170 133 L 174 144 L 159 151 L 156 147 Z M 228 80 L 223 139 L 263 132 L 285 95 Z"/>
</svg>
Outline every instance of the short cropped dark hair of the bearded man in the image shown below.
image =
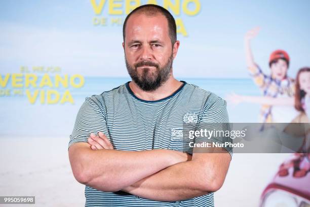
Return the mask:
<svg viewBox="0 0 310 207">
<path fill-rule="evenodd" d="M 146 16 L 156 16 L 159 14 L 162 14 L 166 17 L 167 21 L 168 21 L 168 27 L 169 27 L 169 36 L 170 36 L 170 40 L 172 45 L 176 42 L 177 40 L 177 35 L 176 35 L 176 23 L 175 20 L 172 16 L 172 14 L 165 9 L 164 7 L 158 6 L 158 5 L 153 5 L 153 4 L 146 4 L 146 5 L 142 5 L 140 7 L 137 7 L 136 9 L 132 10 L 128 16 L 125 19 L 125 22 L 123 24 L 123 39 L 125 42 L 125 29 L 126 29 L 126 24 L 127 21 L 129 19 L 129 17 L 131 15 L 133 15 L 134 13 L 141 13 L 144 14 Z"/>
</svg>

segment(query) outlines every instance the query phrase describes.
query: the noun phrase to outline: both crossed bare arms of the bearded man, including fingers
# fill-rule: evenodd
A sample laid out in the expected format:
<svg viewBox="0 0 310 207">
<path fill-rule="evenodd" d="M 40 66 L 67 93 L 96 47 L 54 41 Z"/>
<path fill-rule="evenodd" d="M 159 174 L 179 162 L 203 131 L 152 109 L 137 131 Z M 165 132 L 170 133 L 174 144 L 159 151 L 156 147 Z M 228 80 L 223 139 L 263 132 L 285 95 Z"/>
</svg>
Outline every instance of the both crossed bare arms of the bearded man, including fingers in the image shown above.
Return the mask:
<svg viewBox="0 0 310 207">
<path fill-rule="evenodd" d="M 152 200 L 176 201 L 218 190 L 225 179 L 230 155 L 186 153 L 158 149 L 114 150 L 104 134 L 69 148 L 73 175 L 101 191 L 123 190 Z M 224 150 L 225 151 L 225 150 Z"/>
</svg>

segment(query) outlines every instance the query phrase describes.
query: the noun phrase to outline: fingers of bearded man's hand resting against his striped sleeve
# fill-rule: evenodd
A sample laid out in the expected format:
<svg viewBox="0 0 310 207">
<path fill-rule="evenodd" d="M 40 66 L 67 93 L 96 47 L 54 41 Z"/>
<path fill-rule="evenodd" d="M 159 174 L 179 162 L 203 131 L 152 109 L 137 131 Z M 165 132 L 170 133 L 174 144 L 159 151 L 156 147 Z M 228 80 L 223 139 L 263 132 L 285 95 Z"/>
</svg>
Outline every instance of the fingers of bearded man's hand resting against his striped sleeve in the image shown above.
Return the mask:
<svg viewBox="0 0 310 207">
<path fill-rule="evenodd" d="M 88 138 L 88 144 L 90 144 L 92 150 L 113 150 L 111 142 L 107 139 L 106 135 L 101 131 L 98 135 L 91 133 Z"/>
</svg>

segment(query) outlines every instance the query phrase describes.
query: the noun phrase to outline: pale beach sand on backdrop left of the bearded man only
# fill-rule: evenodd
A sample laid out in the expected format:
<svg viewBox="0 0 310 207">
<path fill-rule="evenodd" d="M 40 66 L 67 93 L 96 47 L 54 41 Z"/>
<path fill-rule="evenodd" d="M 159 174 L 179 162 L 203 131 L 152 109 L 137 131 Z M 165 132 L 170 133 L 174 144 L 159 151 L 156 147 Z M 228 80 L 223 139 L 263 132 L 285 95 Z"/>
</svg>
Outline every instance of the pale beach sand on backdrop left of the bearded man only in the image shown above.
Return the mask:
<svg viewBox="0 0 310 207">
<path fill-rule="evenodd" d="M 85 186 L 75 181 L 71 172 L 69 137 L 0 139 L 1 196 L 35 196 L 35 205 L 20 206 L 85 205 Z"/>
</svg>

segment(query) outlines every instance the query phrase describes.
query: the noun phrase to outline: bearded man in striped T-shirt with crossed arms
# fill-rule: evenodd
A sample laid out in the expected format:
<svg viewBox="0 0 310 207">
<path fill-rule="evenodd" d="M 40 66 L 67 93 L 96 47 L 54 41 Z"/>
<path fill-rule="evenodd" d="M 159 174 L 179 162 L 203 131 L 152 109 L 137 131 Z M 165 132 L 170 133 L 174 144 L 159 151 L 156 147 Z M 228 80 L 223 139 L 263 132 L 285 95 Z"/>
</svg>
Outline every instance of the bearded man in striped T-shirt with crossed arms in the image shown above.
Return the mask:
<svg viewBox="0 0 310 207">
<path fill-rule="evenodd" d="M 86 185 L 86 206 L 213 206 L 232 149 L 183 153 L 180 137 L 184 123 L 199 130 L 228 122 L 226 102 L 173 77 L 180 42 L 166 9 L 136 8 L 123 36 L 132 81 L 86 98 L 70 135 L 69 159 Z"/>
</svg>

